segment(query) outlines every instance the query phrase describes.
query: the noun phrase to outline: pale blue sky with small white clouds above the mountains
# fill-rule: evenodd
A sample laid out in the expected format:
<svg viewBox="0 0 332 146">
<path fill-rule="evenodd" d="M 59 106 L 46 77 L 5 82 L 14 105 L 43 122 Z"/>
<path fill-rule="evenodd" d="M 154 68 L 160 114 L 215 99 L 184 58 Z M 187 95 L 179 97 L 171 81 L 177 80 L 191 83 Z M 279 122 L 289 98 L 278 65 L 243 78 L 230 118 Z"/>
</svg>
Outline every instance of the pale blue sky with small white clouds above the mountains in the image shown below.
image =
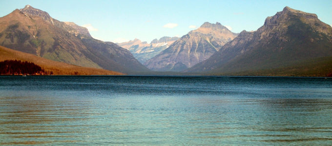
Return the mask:
<svg viewBox="0 0 332 146">
<path fill-rule="evenodd" d="M 220 22 L 234 33 L 255 31 L 285 6 L 332 25 L 332 0 L 0 0 L 0 17 L 27 4 L 112 42 L 182 37 L 204 22 Z"/>
</svg>

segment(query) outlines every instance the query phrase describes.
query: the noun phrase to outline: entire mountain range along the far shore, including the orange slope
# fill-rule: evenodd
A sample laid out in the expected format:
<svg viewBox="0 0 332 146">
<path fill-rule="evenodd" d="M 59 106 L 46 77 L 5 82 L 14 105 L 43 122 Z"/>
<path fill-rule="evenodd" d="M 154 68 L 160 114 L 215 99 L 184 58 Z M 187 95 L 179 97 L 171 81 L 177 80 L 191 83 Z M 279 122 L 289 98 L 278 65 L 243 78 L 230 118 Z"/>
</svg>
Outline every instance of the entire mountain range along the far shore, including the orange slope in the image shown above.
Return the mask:
<svg viewBox="0 0 332 146">
<path fill-rule="evenodd" d="M 182 37 L 113 43 L 26 5 L 0 18 L 0 46 L 0 61 L 55 74 L 332 76 L 332 27 L 287 6 L 256 31 L 205 22 Z"/>
</svg>

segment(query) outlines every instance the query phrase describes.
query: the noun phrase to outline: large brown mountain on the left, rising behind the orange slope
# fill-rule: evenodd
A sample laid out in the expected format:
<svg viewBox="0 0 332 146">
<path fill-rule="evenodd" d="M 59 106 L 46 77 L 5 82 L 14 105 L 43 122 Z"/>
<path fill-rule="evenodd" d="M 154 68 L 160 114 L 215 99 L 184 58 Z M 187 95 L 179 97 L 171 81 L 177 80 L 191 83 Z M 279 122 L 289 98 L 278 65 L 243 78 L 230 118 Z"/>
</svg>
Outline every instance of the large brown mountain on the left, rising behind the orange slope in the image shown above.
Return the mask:
<svg viewBox="0 0 332 146">
<path fill-rule="evenodd" d="M 30 5 L 0 18 L 0 45 L 83 67 L 148 71 L 128 50 L 94 39 L 86 28 L 61 22 Z"/>
</svg>

